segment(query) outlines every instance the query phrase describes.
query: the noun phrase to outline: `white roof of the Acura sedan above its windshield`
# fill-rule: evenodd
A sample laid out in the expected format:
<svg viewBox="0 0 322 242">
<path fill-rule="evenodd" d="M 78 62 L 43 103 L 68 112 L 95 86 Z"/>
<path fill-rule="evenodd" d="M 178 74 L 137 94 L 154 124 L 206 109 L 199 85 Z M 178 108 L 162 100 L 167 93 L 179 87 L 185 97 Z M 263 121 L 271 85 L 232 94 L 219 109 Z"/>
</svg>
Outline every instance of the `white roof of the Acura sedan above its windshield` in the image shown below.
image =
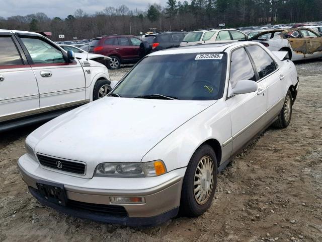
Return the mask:
<svg viewBox="0 0 322 242">
<path fill-rule="evenodd" d="M 246 44 L 260 45 L 260 43 L 252 42 L 252 41 L 237 41 L 237 42 L 214 43 L 214 44 L 195 44 L 195 45 L 183 46 L 178 48 L 170 48 L 170 49 L 155 51 L 149 54 L 149 56 L 166 55 L 166 54 L 223 52 L 225 49 L 229 47 L 244 46 Z"/>
</svg>

